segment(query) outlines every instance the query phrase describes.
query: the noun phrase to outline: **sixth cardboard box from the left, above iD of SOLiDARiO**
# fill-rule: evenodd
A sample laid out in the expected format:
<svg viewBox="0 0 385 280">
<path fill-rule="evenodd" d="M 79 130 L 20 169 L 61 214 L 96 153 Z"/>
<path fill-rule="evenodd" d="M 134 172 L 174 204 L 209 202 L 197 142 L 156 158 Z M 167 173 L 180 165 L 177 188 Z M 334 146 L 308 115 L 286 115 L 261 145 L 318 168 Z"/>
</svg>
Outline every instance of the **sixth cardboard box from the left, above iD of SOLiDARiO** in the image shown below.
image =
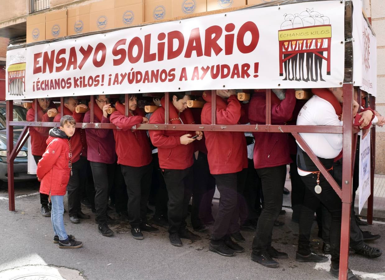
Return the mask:
<svg viewBox="0 0 385 280">
<path fill-rule="evenodd" d="M 153 22 L 172 18 L 172 0 L 145 0 L 144 20 Z"/>
</svg>

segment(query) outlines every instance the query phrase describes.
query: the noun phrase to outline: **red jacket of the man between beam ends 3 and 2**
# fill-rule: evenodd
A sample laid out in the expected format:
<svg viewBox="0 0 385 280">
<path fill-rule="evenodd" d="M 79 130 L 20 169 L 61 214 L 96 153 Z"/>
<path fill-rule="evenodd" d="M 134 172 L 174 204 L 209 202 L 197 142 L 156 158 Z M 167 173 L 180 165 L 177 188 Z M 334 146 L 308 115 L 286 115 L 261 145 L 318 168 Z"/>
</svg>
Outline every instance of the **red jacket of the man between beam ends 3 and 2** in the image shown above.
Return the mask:
<svg viewBox="0 0 385 280">
<path fill-rule="evenodd" d="M 211 124 L 211 93 L 204 93 L 202 124 Z M 241 104 L 235 95 L 224 100 L 216 96 L 216 123 L 240 124 Z M 236 173 L 247 168 L 246 137 L 243 132 L 205 131 L 207 159 L 211 174 Z"/>
</svg>

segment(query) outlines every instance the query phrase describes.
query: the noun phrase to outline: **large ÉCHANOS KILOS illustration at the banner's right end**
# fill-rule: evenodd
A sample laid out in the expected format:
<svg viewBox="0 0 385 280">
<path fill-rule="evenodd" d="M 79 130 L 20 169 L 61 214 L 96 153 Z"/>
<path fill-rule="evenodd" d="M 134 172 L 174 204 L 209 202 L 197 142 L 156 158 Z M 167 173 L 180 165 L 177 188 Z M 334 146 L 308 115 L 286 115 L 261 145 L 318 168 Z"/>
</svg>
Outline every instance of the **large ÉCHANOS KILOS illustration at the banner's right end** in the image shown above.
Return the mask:
<svg viewBox="0 0 385 280">
<path fill-rule="evenodd" d="M 330 75 L 331 25 L 328 17 L 307 8 L 301 13 L 283 15 L 278 31 L 280 76 L 283 80 L 325 81 Z"/>
</svg>

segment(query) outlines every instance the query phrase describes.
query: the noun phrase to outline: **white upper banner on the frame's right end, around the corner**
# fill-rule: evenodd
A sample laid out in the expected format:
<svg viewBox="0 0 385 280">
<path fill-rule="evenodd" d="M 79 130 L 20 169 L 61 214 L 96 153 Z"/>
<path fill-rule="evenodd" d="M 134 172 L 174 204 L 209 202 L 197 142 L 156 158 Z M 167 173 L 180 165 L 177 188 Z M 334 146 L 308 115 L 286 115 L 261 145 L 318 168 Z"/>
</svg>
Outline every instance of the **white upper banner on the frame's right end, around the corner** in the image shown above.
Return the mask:
<svg viewBox="0 0 385 280">
<path fill-rule="evenodd" d="M 353 81 L 377 96 L 377 39 L 363 17 L 361 0 L 353 0 Z"/>
</svg>

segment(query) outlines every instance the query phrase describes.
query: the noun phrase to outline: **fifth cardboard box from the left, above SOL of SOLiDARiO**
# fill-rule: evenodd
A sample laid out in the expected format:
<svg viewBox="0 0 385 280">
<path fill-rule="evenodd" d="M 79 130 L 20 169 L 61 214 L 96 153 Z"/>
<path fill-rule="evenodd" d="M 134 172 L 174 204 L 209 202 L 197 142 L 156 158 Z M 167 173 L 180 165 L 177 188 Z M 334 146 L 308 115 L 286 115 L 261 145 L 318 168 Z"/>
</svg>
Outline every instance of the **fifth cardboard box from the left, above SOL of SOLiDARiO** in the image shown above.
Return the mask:
<svg viewBox="0 0 385 280">
<path fill-rule="evenodd" d="M 143 0 L 115 0 L 115 28 L 137 25 L 144 22 Z"/>
</svg>

